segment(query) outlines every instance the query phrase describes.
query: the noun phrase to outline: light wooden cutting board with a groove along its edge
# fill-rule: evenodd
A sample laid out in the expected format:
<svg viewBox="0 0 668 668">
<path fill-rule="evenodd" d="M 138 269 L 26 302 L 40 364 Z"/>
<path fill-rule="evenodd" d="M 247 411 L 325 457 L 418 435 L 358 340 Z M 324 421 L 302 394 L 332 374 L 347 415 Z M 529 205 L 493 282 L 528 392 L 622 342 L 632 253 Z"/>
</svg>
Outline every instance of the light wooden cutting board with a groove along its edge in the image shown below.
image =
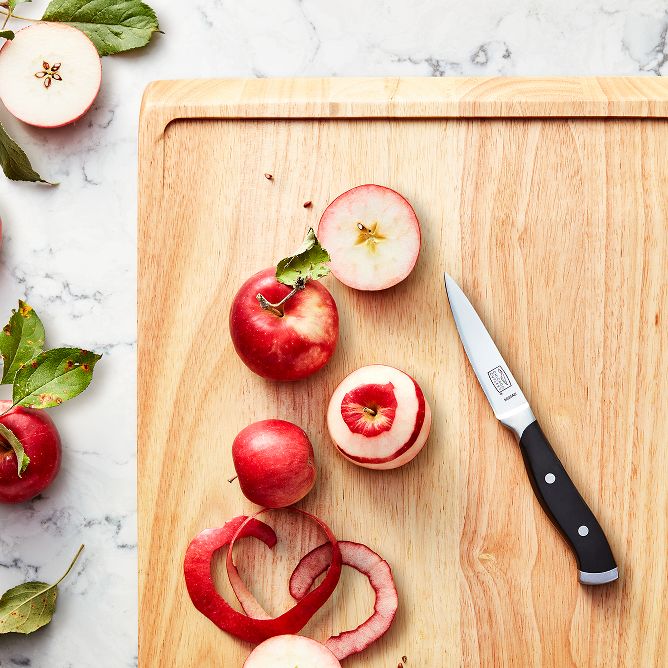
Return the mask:
<svg viewBox="0 0 668 668">
<path fill-rule="evenodd" d="M 193 608 L 182 561 L 201 529 L 253 510 L 227 482 L 230 446 L 269 417 L 313 441 L 319 481 L 301 506 L 395 573 L 395 624 L 349 668 L 665 665 L 666 117 L 668 82 L 658 78 L 149 87 L 139 154 L 141 668 L 236 667 L 248 655 Z M 336 195 L 367 182 L 413 203 L 423 232 L 415 271 L 381 293 L 326 279 L 341 316 L 329 365 L 296 384 L 254 376 L 228 333 L 235 291 L 294 249 Z M 600 519 L 618 582 L 578 584 L 465 358 L 444 270 Z M 376 362 L 417 378 L 434 410 L 423 452 L 388 472 L 343 460 L 325 427 L 337 383 Z M 240 545 L 237 557 L 276 614 L 296 560 L 323 540 L 288 515 L 269 519 L 275 554 Z M 365 580 L 345 572 L 304 633 L 324 640 L 354 627 L 372 601 Z"/>
</svg>

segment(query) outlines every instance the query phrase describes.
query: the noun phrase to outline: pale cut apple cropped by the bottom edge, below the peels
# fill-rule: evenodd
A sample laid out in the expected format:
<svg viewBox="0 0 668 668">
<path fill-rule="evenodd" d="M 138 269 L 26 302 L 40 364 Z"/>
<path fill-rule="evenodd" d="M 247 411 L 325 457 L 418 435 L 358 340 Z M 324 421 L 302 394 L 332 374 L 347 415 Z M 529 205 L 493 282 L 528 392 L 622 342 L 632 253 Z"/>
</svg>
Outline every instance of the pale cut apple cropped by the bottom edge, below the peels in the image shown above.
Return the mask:
<svg viewBox="0 0 668 668">
<path fill-rule="evenodd" d="M 259 644 L 243 668 L 341 668 L 321 643 L 304 636 L 275 636 Z"/>
</svg>

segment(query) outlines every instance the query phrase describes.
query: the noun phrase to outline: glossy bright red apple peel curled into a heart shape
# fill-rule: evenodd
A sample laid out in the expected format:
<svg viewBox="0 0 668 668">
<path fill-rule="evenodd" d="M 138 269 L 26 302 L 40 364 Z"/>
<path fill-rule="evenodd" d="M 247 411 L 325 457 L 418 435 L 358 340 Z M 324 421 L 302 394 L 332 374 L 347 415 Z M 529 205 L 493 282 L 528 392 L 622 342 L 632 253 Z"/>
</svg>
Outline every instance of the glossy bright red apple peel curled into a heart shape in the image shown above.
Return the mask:
<svg viewBox="0 0 668 668">
<path fill-rule="evenodd" d="M 232 550 L 237 538 L 255 536 L 268 547 L 273 547 L 276 544 L 275 533 L 268 525 L 256 519 L 267 510 L 261 510 L 252 517 L 236 517 L 219 529 L 206 529 L 201 532 L 188 546 L 184 560 L 186 587 L 197 610 L 223 631 L 251 643 L 261 643 L 273 636 L 301 631 L 332 595 L 341 576 L 341 551 L 331 529 L 317 517 L 295 508 L 293 510 L 298 510 L 316 522 L 327 536 L 333 557 L 324 580 L 295 606 L 273 619 L 254 619 L 232 608 L 220 596 L 214 585 L 211 575 L 213 555 L 217 550 L 229 545 L 227 558 L 230 572 L 229 564 L 232 563 L 233 566 Z M 243 589 L 252 597 L 245 587 Z M 245 593 L 241 595 L 245 596 Z"/>
</svg>

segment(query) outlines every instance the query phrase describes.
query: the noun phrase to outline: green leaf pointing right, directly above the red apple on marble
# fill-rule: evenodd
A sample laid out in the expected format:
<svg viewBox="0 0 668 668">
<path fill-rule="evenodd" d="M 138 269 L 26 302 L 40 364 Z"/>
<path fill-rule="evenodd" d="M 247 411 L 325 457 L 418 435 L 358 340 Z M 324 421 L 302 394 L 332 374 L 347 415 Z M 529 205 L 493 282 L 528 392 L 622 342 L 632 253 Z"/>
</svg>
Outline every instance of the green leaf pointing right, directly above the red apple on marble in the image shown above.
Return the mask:
<svg viewBox="0 0 668 668">
<path fill-rule="evenodd" d="M 13 405 L 59 406 L 81 394 L 102 355 L 79 348 L 54 348 L 24 364 L 14 378 Z"/>
</svg>

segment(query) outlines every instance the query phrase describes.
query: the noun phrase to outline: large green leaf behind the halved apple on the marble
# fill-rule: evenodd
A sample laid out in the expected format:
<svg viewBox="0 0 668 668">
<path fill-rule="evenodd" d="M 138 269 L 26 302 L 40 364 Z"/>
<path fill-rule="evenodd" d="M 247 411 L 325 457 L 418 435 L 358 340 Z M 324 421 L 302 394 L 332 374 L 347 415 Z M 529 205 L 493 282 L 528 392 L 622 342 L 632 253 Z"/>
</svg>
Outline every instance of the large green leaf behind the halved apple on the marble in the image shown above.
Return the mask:
<svg viewBox="0 0 668 668">
<path fill-rule="evenodd" d="M 42 19 L 85 32 L 101 56 L 146 46 L 160 29 L 155 12 L 140 0 L 52 0 Z"/>
</svg>

